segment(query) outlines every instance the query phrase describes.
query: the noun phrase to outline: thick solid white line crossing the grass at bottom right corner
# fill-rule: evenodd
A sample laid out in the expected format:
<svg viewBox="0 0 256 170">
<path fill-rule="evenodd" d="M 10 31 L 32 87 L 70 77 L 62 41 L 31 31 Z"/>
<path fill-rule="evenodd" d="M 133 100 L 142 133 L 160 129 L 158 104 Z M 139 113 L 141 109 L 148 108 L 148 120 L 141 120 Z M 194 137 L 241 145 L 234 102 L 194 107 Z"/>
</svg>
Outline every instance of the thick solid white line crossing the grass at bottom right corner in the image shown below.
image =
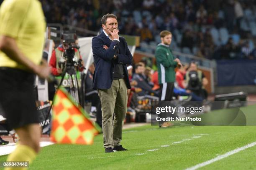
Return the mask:
<svg viewBox="0 0 256 170">
<path fill-rule="evenodd" d="M 200 164 L 197 164 L 197 165 L 195 165 L 195 166 L 193 166 L 193 167 L 187 168 L 186 170 L 196 170 L 196 169 L 201 168 L 201 167 L 203 167 L 203 166 L 205 166 L 205 165 L 209 165 L 209 164 L 214 163 L 214 162 L 216 162 L 216 161 L 218 161 L 218 160 L 221 160 L 221 159 L 223 159 L 223 158 L 226 158 L 226 157 L 228 157 L 228 156 L 230 156 L 230 155 L 233 155 L 233 154 L 235 154 L 235 153 L 238 153 L 238 152 L 240 152 L 240 151 L 242 151 L 242 150 L 246 150 L 247 148 L 251 148 L 251 147 L 253 147 L 253 146 L 255 146 L 255 145 L 256 145 L 256 142 L 253 142 L 253 143 L 250 143 L 250 144 L 248 144 L 248 145 L 246 145 L 246 146 L 243 146 L 243 147 L 241 147 L 241 148 L 236 148 L 235 150 L 231 150 L 231 151 L 229 151 L 229 152 L 227 152 L 227 153 L 225 153 L 225 154 L 223 154 L 223 155 L 217 156 L 216 158 L 213 158 L 213 159 L 211 159 L 211 160 L 207 160 L 207 161 L 205 161 L 205 162 L 203 162 L 203 163 L 200 163 Z"/>
</svg>

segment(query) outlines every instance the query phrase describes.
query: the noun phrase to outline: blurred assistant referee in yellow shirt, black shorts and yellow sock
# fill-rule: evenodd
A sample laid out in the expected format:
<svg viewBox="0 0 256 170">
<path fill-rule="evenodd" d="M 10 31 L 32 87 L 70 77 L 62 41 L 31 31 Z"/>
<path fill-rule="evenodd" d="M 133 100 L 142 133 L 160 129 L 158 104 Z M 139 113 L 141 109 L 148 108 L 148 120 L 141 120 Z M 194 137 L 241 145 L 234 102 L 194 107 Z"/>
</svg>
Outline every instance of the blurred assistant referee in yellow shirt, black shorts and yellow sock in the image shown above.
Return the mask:
<svg viewBox="0 0 256 170">
<path fill-rule="evenodd" d="M 34 74 L 46 78 L 39 65 L 46 23 L 38 0 L 4 0 L 0 6 L 0 107 L 20 142 L 7 161 L 29 161 L 39 152 L 41 130 L 33 92 Z M 14 168 L 17 170 L 17 168 Z"/>
</svg>

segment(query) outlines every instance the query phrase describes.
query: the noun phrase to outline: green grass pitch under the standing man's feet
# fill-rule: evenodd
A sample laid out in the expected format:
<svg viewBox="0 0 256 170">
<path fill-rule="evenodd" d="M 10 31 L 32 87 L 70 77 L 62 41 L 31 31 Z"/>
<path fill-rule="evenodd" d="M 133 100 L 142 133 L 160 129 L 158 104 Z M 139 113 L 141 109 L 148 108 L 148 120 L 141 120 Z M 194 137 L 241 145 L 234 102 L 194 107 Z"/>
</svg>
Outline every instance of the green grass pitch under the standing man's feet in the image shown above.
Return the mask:
<svg viewBox="0 0 256 170">
<path fill-rule="evenodd" d="M 255 112 L 256 106 L 245 107 Z M 244 111 L 243 110 L 243 111 Z M 30 170 L 184 170 L 256 142 L 256 126 L 146 125 L 123 131 L 128 151 L 104 153 L 102 134 L 94 145 L 50 145 L 42 148 Z M 256 146 L 206 165 L 202 170 L 255 170 Z M 7 156 L 1 156 L 5 161 Z"/>
</svg>

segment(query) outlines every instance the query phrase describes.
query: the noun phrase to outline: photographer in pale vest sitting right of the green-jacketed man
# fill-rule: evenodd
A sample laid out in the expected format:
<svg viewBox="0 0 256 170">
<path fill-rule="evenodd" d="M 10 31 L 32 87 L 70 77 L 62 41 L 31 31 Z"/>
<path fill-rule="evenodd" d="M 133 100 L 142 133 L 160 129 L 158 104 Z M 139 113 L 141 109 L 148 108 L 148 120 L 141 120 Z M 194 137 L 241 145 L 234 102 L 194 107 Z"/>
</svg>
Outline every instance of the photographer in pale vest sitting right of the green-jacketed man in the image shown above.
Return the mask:
<svg viewBox="0 0 256 170">
<path fill-rule="evenodd" d="M 187 90 L 194 92 L 196 95 L 202 97 L 203 99 L 207 98 L 208 94 L 205 90 L 205 86 L 208 84 L 208 80 L 202 71 L 197 70 L 196 62 L 190 62 L 184 79 L 187 83 Z"/>
</svg>

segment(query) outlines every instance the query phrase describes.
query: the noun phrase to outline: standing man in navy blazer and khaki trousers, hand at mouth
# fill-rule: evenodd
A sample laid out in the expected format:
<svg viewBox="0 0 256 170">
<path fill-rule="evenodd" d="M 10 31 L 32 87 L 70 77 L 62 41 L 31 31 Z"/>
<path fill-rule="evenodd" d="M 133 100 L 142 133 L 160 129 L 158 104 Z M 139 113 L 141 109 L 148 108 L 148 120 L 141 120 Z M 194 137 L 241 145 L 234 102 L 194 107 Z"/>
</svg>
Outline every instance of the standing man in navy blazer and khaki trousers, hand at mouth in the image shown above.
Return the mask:
<svg viewBox="0 0 256 170">
<path fill-rule="evenodd" d="M 127 111 L 127 89 L 131 89 L 126 65 L 131 65 L 133 56 L 125 39 L 118 35 L 117 17 L 106 14 L 101 22 L 103 31 L 92 39 L 95 63 L 92 81 L 101 101 L 103 146 L 110 153 L 127 150 L 120 142 Z"/>
</svg>

